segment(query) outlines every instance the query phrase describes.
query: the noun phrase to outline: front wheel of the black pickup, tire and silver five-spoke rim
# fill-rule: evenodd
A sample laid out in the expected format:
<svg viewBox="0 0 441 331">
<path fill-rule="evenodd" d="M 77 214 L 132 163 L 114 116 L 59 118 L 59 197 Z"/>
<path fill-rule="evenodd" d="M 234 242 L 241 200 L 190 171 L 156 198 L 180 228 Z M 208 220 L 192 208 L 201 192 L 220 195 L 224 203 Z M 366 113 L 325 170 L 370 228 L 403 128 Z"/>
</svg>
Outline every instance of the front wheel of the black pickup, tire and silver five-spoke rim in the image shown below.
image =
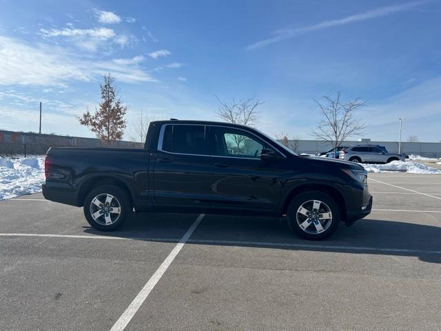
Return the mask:
<svg viewBox="0 0 441 331">
<path fill-rule="evenodd" d="M 320 203 L 317 204 L 316 201 Z M 318 213 L 313 213 L 314 220 L 311 220 L 311 212 L 316 211 L 317 205 Z M 307 213 L 309 214 L 307 215 Z M 326 217 L 330 218 L 320 219 L 320 214 L 325 214 Z M 287 221 L 289 228 L 304 239 L 326 239 L 337 230 L 340 220 L 341 212 L 336 201 L 328 194 L 320 191 L 302 192 L 296 195 L 288 206 Z"/>
</svg>

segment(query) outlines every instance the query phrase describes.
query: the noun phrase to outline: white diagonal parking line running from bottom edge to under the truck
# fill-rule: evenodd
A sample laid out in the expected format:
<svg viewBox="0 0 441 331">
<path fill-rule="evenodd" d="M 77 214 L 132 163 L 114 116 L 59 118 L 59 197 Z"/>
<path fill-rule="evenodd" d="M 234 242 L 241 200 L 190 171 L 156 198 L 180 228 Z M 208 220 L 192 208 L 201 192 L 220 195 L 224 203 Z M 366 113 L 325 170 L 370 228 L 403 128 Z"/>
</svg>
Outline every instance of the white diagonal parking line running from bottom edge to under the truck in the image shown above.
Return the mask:
<svg viewBox="0 0 441 331">
<path fill-rule="evenodd" d="M 127 307 L 125 312 L 119 317 L 118 321 L 114 323 L 110 331 L 122 331 L 125 329 L 127 324 L 132 320 L 134 317 L 134 314 L 139 310 L 145 299 L 147 299 L 150 292 L 152 292 L 153 288 L 155 287 L 156 283 L 158 283 L 159 279 L 163 277 L 164 272 L 167 270 L 167 268 L 170 266 L 170 264 L 173 262 L 174 258 L 178 255 L 178 253 L 181 251 L 185 243 L 188 241 L 189 237 L 192 235 L 196 227 L 201 223 L 202 219 L 204 218 L 205 214 L 200 214 L 196 221 L 192 224 L 192 226 L 189 227 L 187 232 L 183 235 L 181 240 L 174 246 L 172 252 L 165 258 L 163 263 L 159 266 L 159 268 L 154 272 L 152 277 L 150 277 L 149 281 L 145 283 L 142 290 L 136 295 L 135 299 L 133 299 L 132 303 Z"/>
</svg>

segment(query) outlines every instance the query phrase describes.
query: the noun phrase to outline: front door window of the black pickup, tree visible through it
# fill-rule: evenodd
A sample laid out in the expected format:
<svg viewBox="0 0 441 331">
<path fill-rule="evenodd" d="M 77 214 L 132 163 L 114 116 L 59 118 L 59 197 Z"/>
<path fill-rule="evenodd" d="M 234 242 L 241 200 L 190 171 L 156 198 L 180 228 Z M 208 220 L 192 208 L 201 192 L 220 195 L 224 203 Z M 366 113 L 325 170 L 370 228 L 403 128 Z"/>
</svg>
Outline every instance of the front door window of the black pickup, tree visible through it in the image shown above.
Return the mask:
<svg viewBox="0 0 441 331">
<path fill-rule="evenodd" d="M 260 159 L 267 144 L 252 134 L 234 128 L 212 127 L 214 139 L 212 155 L 220 157 L 244 157 Z"/>
</svg>

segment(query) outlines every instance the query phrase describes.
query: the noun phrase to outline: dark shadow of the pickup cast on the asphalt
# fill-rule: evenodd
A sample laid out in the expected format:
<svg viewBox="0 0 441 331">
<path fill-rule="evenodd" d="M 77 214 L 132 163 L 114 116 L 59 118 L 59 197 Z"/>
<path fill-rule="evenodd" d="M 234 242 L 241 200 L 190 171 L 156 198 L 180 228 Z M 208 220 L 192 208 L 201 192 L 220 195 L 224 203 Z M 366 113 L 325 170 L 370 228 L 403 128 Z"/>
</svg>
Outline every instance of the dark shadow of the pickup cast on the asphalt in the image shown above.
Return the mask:
<svg viewBox="0 0 441 331">
<path fill-rule="evenodd" d="M 198 214 L 136 213 L 113 232 L 84 227 L 84 232 L 132 240 L 178 242 Z M 325 241 L 307 241 L 292 234 L 285 220 L 267 217 L 206 215 L 189 243 L 233 245 L 283 250 L 311 250 L 351 254 L 418 257 L 441 263 L 441 228 L 431 225 L 362 219 L 347 228 L 343 223 Z"/>
</svg>

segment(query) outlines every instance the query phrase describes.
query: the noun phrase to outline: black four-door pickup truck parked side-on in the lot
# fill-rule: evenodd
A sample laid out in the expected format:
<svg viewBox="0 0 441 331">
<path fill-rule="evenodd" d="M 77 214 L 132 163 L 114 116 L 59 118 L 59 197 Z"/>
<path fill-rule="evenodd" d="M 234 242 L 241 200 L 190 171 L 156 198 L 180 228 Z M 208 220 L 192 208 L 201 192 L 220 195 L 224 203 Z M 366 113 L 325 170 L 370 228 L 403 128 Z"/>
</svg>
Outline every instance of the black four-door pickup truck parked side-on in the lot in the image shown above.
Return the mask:
<svg viewBox="0 0 441 331">
<path fill-rule="evenodd" d="M 336 159 L 298 156 L 254 128 L 154 121 L 144 149 L 50 148 L 45 199 L 83 206 L 99 230 L 136 212 L 287 216 L 306 239 L 371 212 L 367 172 Z"/>
</svg>

